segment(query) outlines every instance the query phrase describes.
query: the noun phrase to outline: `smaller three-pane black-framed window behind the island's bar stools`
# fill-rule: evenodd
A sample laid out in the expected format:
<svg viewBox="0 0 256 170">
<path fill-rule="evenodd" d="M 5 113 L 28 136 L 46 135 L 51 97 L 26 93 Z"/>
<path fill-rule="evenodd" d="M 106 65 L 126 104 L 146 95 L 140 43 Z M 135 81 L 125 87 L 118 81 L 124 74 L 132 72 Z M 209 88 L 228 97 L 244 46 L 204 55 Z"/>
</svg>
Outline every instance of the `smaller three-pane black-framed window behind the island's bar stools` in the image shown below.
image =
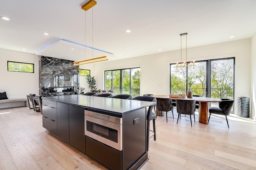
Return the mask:
<svg viewBox="0 0 256 170">
<path fill-rule="evenodd" d="M 140 68 L 107 70 L 104 73 L 105 90 L 113 90 L 116 94 L 140 96 Z"/>
</svg>

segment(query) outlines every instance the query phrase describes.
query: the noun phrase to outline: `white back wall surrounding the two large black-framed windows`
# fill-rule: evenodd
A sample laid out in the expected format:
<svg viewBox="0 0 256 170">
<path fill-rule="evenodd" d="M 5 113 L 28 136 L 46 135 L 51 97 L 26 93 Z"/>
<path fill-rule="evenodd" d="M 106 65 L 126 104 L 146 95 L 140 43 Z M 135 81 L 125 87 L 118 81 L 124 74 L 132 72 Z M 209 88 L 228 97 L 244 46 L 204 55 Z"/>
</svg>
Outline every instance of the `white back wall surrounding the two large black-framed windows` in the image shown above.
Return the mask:
<svg viewBox="0 0 256 170">
<path fill-rule="evenodd" d="M 188 61 L 200 61 L 226 57 L 235 57 L 235 101 L 239 96 L 250 97 L 250 38 L 188 48 Z M 169 67 L 170 63 L 177 62 L 180 62 L 180 50 L 134 57 L 107 63 L 96 63 L 94 76 L 97 81 L 97 88 L 103 89 L 104 70 L 140 67 L 140 95 L 169 94 Z"/>
</svg>

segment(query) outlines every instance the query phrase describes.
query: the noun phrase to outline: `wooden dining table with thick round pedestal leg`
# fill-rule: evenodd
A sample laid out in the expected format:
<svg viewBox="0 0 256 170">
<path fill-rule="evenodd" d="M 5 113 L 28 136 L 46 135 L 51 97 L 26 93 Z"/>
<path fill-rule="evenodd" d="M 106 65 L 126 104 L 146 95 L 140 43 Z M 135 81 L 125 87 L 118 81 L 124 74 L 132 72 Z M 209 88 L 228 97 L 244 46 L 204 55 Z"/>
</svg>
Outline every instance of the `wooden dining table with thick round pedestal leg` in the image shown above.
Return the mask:
<svg viewBox="0 0 256 170">
<path fill-rule="evenodd" d="M 152 95 L 152 97 L 155 98 L 170 98 L 169 95 Z M 171 98 L 172 100 L 175 100 L 176 98 Z M 198 115 L 199 119 L 198 121 L 200 123 L 207 124 L 208 121 L 208 102 L 220 102 L 220 99 L 216 98 L 207 98 L 207 97 L 195 97 L 188 98 L 187 96 L 185 98 L 178 98 L 183 100 L 196 100 L 196 102 L 199 102 L 199 109 L 198 109 Z M 157 104 L 157 103 L 156 103 Z"/>
</svg>

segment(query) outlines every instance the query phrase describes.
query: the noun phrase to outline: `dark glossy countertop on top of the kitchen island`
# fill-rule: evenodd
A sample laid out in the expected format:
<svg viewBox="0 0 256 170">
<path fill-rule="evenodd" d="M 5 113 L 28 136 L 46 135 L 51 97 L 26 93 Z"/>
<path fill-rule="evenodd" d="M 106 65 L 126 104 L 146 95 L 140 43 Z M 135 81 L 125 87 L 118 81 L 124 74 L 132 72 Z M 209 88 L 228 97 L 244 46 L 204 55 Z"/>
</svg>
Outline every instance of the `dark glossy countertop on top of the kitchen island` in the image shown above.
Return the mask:
<svg viewBox="0 0 256 170">
<path fill-rule="evenodd" d="M 52 96 L 44 97 L 43 99 L 84 107 L 87 110 L 96 111 L 98 113 L 119 116 L 156 104 L 156 102 L 104 98 L 85 95 Z"/>
</svg>

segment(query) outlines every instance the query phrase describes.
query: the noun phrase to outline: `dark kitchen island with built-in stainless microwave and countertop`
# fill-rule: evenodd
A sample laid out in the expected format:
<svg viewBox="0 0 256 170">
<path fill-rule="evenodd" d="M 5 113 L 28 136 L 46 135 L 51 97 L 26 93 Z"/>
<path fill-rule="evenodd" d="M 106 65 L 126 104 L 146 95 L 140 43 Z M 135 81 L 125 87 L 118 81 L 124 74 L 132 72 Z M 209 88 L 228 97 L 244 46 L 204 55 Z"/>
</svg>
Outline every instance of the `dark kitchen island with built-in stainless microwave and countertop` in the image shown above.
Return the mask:
<svg viewBox="0 0 256 170">
<path fill-rule="evenodd" d="M 43 127 L 108 169 L 147 160 L 146 111 L 155 102 L 70 95 L 42 99 Z"/>
</svg>

